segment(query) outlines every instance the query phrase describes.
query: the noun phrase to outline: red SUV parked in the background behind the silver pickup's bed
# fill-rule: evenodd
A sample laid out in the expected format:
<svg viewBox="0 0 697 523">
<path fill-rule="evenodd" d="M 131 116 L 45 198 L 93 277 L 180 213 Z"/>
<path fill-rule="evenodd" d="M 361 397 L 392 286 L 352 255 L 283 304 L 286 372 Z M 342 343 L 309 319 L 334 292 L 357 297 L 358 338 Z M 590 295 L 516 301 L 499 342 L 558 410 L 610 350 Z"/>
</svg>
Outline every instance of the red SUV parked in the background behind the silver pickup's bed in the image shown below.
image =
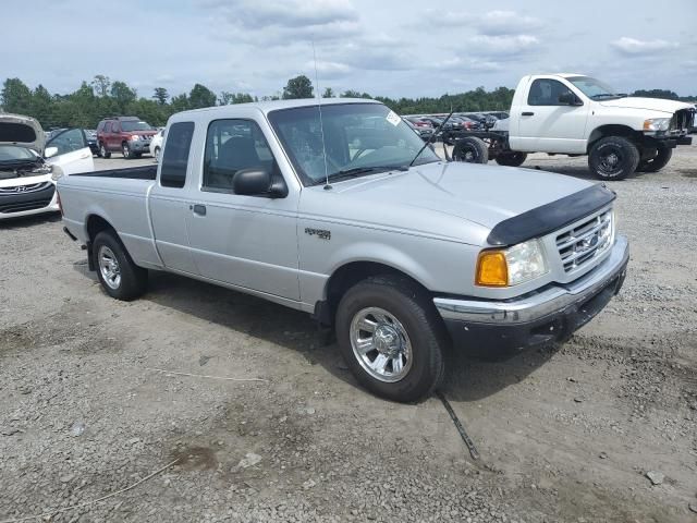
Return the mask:
<svg viewBox="0 0 697 523">
<path fill-rule="evenodd" d="M 157 131 L 137 117 L 107 118 L 97 125 L 99 154 L 110 158 L 120 151 L 124 158 L 139 158 L 149 153 L 150 139 Z"/>
</svg>

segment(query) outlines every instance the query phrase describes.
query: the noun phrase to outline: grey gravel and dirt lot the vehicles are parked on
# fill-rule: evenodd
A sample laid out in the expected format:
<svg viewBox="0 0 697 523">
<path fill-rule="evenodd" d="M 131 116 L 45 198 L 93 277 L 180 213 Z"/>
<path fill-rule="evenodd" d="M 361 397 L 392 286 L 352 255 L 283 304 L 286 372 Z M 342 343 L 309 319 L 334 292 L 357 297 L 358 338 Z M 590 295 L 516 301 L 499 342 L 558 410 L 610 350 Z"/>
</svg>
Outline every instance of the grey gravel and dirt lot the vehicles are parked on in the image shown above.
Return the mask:
<svg viewBox="0 0 697 523">
<path fill-rule="evenodd" d="M 697 522 L 697 146 L 610 185 L 621 295 L 558 350 L 452 369 L 478 462 L 438 399 L 367 394 L 307 316 L 163 273 L 117 302 L 58 217 L 1 223 L 0 521 Z"/>
</svg>

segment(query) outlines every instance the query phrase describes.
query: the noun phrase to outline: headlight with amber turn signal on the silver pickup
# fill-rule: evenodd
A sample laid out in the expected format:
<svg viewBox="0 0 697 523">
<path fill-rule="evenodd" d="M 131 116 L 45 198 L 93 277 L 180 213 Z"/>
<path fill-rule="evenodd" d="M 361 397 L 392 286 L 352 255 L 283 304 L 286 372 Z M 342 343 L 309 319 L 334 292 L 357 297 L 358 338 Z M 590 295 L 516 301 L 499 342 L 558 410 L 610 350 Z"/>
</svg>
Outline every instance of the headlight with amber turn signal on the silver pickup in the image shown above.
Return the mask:
<svg viewBox="0 0 697 523">
<path fill-rule="evenodd" d="M 504 250 L 479 253 L 475 283 L 480 287 L 513 287 L 549 272 L 539 240 L 529 240 Z"/>
</svg>

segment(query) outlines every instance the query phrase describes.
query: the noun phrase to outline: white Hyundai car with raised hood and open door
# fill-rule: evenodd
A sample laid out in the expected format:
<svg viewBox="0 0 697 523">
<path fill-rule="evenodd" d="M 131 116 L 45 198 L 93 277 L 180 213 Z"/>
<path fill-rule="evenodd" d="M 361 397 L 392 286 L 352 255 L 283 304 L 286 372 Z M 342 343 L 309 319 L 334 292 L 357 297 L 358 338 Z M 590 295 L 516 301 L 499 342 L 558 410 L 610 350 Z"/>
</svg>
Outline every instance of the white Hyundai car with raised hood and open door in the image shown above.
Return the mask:
<svg viewBox="0 0 697 523">
<path fill-rule="evenodd" d="M 0 220 L 59 210 L 56 180 L 94 168 L 82 130 L 46 141 L 36 119 L 0 114 Z"/>
</svg>

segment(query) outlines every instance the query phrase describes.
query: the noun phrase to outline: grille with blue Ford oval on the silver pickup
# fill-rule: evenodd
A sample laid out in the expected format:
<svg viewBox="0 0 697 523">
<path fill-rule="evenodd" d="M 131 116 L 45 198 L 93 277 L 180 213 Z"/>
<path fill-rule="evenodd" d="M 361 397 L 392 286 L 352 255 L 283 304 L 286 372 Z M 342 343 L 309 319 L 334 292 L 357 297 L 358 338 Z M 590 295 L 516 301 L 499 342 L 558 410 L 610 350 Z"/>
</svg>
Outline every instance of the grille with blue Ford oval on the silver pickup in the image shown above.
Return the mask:
<svg viewBox="0 0 697 523">
<path fill-rule="evenodd" d="M 612 209 L 603 210 L 557 236 L 557 250 L 565 272 L 592 262 L 612 245 Z"/>
</svg>

